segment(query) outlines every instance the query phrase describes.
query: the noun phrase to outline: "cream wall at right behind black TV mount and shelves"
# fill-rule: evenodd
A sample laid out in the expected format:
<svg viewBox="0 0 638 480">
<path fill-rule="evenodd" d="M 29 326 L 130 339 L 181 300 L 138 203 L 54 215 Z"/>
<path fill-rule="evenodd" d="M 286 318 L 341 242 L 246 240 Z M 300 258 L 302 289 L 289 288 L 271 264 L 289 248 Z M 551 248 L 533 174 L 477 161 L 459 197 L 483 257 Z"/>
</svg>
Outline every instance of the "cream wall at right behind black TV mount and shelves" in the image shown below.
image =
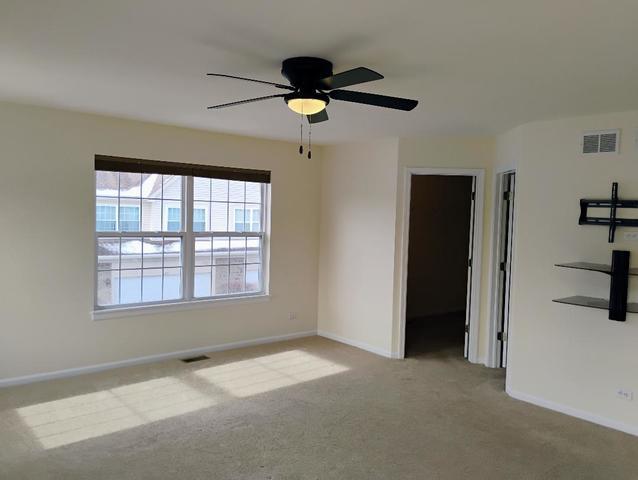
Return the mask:
<svg viewBox="0 0 638 480">
<path fill-rule="evenodd" d="M 499 164 L 515 163 L 516 232 L 508 391 L 540 403 L 638 434 L 638 397 L 616 397 L 623 387 L 638 395 L 638 315 L 625 323 L 607 313 L 553 303 L 570 295 L 607 297 L 609 277 L 554 267 L 557 262 L 609 263 L 613 249 L 638 244 L 619 228 L 579 226 L 579 199 L 608 198 L 612 181 L 621 198 L 638 198 L 638 112 L 527 124 L 498 138 Z M 619 155 L 579 153 L 585 130 L 621 128 Z M 619 215 L 627 215 L 619 211 Z M 634 213 L 635 215 L 635 213 Z M 629 301 L 638 301 L 636 277 Z"/>
</svg>

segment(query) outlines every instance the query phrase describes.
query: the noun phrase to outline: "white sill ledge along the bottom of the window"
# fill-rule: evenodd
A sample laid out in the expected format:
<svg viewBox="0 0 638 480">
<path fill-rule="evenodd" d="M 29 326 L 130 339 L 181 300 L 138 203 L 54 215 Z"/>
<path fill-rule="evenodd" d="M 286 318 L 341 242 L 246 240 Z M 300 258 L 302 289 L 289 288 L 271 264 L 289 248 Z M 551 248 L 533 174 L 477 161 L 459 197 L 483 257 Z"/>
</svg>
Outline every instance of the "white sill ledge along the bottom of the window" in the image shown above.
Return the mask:
<svg viewBox="0 0 638 480">
<path fill-rule="evenodd" d="M 156 313 L 179 312 L 184 310 L 197 310 L 210 307 L 225 307 L 228 305 L 243 305 L 270 301 L 270 295 L 259 294 L 245 297 L 208 298 L 205 300 L 191 300 L 174 303 L 162 303 L 155 305 L 136 305 L 134 307 L 108 308 L 91 312 L 93 320 L 107 320 L 109 318 L 135 317 L 139 315 L 152 315 Z"/>
</svg>

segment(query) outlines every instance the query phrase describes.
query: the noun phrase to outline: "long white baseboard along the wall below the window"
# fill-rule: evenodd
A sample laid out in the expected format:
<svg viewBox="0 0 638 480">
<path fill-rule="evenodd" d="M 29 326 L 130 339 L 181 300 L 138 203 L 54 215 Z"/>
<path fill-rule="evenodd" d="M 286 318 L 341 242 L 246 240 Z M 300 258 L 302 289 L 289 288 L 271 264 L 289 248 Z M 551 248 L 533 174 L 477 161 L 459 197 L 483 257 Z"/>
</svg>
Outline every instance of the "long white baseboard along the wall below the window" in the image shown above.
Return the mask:
<svg viewBox="0 0 638 480">
<path fill-rule="evenodd" d="M 33 375 L 25 375 L 21 377 L 11 377 L 0 379 L 0 388 L 10 387 L 13 385 L 23 385 L 25 383 L 40 382 L 43 380 L 53 380 L 55 378 L 73 377 L 85 373 L 101 372 L 112 368 L 129 367 L 132 365 L 141 365 L 144 363 L 158 362 L 161 360 L 170 360 L 173 358 L 184 358 L 204 353 L 221 352 L 223 350 L 232 350 L 234 348 L 251 347 L 255 345 L 264 345 L 267 343 L 281 342 L 284 340 L 293 340 L 295 338 L 312 337 L 317 335 L 315 330 L 306 332 L 295 332 L 286 335 L 276 335 L 273 337 L 261 337 L 252 340 L 242 340 L 239 342 L 223 343 L 220 345 L 212 345 L 208 347 L 191 348 L 189 350 L 179 350 L 176 352 L 159 353 L 156 355 L 147 355 L 145 357 L 130 358 L 127 360 L 119 360 L 117 362 L 100 363 L 97 365 L 88 365 L 86 367 L 69 368 L 66 370 L 57 370 L 54 372 L 36 373 Z"/>
</svg>

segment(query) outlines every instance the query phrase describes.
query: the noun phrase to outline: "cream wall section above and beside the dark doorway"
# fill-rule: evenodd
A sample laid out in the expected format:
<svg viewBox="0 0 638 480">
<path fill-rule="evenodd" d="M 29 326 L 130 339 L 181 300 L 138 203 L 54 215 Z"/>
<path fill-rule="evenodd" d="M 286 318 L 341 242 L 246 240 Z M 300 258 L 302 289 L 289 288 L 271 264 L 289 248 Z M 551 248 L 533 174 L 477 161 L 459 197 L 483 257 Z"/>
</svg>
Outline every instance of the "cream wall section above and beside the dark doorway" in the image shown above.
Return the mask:
<svg viewBox="0 0 638 480">
<path fill-rule="evenodd" d="M 493 163 L 496 155 L 496 145 L 492 137 L 436 137 L 436 138 L 406 138 L 399 143 L 399 168 L 397 170 L 397 225 L 395 248 L 395 282 L 394 282 L 394 320 L 393 320 L 393 350 L 400 351 L 401 329 L 401 258 L 402 235 L 404 219 L 404 178 L 409 167 L 429 168 L 479 168 L 485 171 L 485 195 L 483 201 L 483 255 L 481 291 L 479 294 L 479 345 L 477 361 L 484 363 L 488 348 L 489 322 L 489 257 L 490 257 L 490 224 L 493 201 Z"/>
</svg>

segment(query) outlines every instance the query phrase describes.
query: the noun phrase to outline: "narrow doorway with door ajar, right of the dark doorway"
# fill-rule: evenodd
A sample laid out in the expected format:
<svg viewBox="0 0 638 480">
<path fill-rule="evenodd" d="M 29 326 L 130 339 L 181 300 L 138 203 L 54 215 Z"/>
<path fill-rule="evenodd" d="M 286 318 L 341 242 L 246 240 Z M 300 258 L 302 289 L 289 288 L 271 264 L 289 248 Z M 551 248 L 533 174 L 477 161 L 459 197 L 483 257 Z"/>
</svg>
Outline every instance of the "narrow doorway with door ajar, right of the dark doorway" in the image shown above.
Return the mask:
<svg viewBox="0 0 638 480">
<path fill-rule="evenodd" d="M 497 358 L 498 366 L 507 367 L 507 342 L 510 319 L 510 291 L 512 286 L 512 238 L 514 233 L 514 191 L 516 174 L 507 172 L 502 175 L 503 199 L 500 209 L 499 228 L 499 275 L 498 275 L 498 330 Z"/>
</svg>

